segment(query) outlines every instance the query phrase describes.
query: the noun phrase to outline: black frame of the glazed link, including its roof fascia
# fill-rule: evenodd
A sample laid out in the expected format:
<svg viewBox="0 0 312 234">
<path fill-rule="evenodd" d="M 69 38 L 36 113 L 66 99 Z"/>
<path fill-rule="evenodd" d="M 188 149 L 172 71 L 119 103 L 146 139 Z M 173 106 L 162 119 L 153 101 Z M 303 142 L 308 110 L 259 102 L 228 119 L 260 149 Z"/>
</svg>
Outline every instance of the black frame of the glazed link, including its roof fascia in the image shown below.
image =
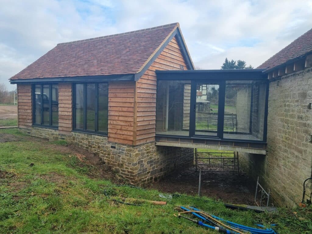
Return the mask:
<svg viewBox="0 0 312 234">
<path fill-rule="evenodd" d="M 269 80 L 264 69 L 245 69 L 245 70 L 185 70 L 185 71 L 159 71 L 156 70 L 157 84 L 162 80 L 191 80 L 191 101 L 190 101 L 190 126 L 189 136 L 178 136 L 168 134 L 156 134 L 156 137 L 180 138 L 180 139 L 204 139 L 204 140 L 222 140 L 229 142 L 245 143 L 266 143 L 267 141 L 267 117 L 268 117 L 268 96 Z M 224 125 L 224 106 L 225 106 L 225 87 L 227 80 L 252 80 L 261 81 L 266 84 L 264 126 L 262 140 L 245 139 L 227 139 L 223 137 Z M 195 111 L 196 105 L 196 83 L 197 82 L 215 82 L 219 84 L 219 106 L 218 106 L 218 129 L 217 137 L 195 135 Z M 156 103 L 157 105 L 157 103 Z M 252 105 L 252 103 L 251 103 Z"/>
</svg>

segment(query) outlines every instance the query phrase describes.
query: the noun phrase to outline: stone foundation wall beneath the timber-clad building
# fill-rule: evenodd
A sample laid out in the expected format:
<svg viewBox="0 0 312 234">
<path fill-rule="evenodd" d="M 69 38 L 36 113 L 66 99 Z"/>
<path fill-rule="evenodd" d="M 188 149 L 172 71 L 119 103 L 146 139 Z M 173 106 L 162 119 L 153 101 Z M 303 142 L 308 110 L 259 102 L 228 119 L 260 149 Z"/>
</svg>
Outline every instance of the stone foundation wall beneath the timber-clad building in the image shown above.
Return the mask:
<svg viewBox="0 0 312 234">
<path fill-rule="evenodd" d="M 131 146 L 108 142 L 105 136 L 79 132 L 65 135 L 59 134 L 56 129 L 40 127 L 20 128 L 20 131 L 50 141 L 66 140 L 99 154 L 116 173 L 137 186 L 144 186 L 193 165 L 194 151 L 190 148 L 156 146 L 154 142 Z"/>
</svg>

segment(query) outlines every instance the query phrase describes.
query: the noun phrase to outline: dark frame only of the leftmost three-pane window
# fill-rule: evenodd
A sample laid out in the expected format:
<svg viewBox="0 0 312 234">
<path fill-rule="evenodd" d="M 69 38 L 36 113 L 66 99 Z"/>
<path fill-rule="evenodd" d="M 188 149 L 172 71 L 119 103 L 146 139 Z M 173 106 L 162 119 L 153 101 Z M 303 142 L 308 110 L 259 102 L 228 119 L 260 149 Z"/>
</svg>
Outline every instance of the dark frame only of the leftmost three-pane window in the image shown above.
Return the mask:
<svg viewBox="0 0 312 234">
<path fill-rule="evenodd" d="M 35 85 L 40 85 L 40 93 L 41 93 L 41 105 L 43 106 L 43 85 L 49 85 L 49 93 L 50 96 L 52 94 L 52 85 L 58 85 L 58 83 L 40 83 L 40 84 L 32 84 L 32 125 L 37 127 L 45 127 L 45 128 L 53 128 L 58 129 L 58 123 L 57 126 L 52 125 L 52 101 L 51 97 L 49 99 L 49 124 L 43 124 L 43 109 L 41 109 L 41 118 L 40 118 L 40 124 L 35 123 L 35 106 L 36 106 L 36 95 L 35 95 Z M 57 100 L 57 105 L 58 105 Z M 58 112 L 58 110 L 57 110 Z"/>
</svg>

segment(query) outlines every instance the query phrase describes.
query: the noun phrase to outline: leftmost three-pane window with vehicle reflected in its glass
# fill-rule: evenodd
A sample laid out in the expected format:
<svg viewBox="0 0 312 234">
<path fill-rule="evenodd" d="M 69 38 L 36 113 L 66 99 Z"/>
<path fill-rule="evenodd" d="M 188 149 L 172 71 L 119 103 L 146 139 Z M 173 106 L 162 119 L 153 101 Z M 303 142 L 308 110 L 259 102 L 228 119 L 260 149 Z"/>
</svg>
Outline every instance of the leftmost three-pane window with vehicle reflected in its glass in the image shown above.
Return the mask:
<svg viewBox="0 0 312 234">
<path fill-rule="evenodd" d="M 33 125 L 58 127 L 58 85 L 33 85 Z"/>
</svg>

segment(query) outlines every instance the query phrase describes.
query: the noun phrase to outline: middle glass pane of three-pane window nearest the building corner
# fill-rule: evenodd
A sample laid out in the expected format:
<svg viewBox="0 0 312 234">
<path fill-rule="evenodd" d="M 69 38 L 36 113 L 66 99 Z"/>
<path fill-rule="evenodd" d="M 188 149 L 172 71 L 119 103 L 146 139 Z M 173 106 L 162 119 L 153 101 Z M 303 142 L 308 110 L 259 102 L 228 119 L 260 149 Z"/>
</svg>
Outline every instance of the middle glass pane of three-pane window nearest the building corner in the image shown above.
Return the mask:
<svg viewBox="0 0 312 234">
<path fill-rule="evenodd" d="M 95 131 L 95 84 L 87 84 L 87 128 Z"/>
</svg>

